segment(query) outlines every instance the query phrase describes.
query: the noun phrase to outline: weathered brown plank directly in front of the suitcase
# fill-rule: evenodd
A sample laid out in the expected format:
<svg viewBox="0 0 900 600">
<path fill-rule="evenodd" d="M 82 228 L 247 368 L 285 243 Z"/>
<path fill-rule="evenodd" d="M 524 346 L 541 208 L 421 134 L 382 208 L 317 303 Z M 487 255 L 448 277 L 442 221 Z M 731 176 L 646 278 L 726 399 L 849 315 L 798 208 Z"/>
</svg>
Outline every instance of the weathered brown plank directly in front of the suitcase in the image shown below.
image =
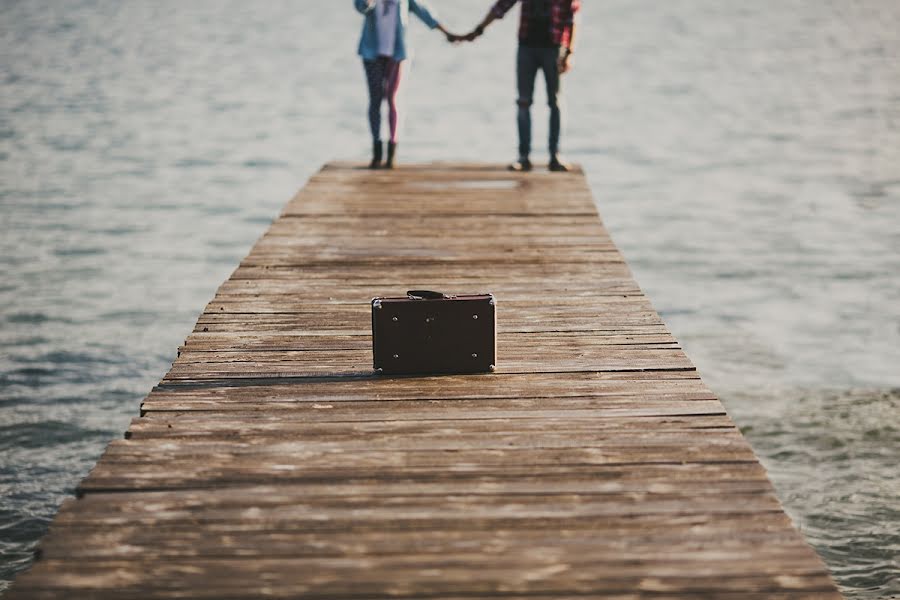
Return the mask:
<svg viewBox="0 0 900 600">
<path fill-rule="evenodd" d="M 241 410 L 247 405 L 276 409 L 279 403 L 287 403 L 299 410 L 316 405 L 338 408 L 338 403 L 350 402 L 356 404 L 348 405 L 348 411 L 359 415 L 389 410 L 392 418 L 404 419 L 414 410 L 431 411 L 437 418 L 446 410 L 456 409 L 495 413 L 541 409 L 655 410 L 666 403 L 669 410 L 687 410 L 700 406 L 701 401 L 706 403 L 701 408 L 724 412 L 696 371 L 642 371 L 171 381 L 151 392 L 144 405 L 166 409 L 176 403 L 207 402 L 221 410 L 230 405 Z"/>
</svg>

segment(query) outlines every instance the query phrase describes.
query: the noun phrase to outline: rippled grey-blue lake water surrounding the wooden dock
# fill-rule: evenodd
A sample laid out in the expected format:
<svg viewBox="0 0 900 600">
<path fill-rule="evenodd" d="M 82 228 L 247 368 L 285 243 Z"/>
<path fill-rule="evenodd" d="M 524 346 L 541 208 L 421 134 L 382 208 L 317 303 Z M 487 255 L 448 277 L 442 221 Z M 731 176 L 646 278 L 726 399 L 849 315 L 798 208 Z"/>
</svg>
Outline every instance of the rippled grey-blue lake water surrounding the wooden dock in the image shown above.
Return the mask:
<svg viewBox="0 0 900 600">
<path fill-rule="evenodd" d="M 900 3 L 585 4 L 567 155 L 847 597 L 900 597 Z M 366 158 L 359 26 L 0 3 L 0 591 L 281 206 Z M 411 38 L 401 160 L 512 159 L 515 18 Z"/>
</svg>

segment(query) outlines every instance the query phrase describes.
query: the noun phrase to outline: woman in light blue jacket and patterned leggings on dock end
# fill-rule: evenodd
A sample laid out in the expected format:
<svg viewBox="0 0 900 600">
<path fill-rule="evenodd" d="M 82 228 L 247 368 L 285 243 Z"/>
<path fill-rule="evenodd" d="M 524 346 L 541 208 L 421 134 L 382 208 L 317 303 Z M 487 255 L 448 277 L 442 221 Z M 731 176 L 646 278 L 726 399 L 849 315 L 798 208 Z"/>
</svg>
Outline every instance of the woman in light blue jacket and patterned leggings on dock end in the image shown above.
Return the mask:
<svg viewBox="0 0 900 600">
<path fill-rule="evenodd" d="M 365 16 L 362 37 L 359 40 L 359 55 L 363 59 L 366 82 L 369 85 L 369 127 L 372 129 L 372 162 L 369 168 L 377 169 L 384 166 L 386 169 L 392 169 L 397 152 L 400 121 L 397 95 L 400 90 L 402 64 L 408 56 L 406 26 L 409 24 L 409 13 L 414 13 L 429 28 L 441 31 L 447 36 L 448 42 L 460 41 L 461 38 L 438 23 L 425 0 L 353 0 L 353 5 Z M 382 165 L 381 103 L 385 99 L 389 109 L 390 139 L 387 159 Z"/>
</svg>

